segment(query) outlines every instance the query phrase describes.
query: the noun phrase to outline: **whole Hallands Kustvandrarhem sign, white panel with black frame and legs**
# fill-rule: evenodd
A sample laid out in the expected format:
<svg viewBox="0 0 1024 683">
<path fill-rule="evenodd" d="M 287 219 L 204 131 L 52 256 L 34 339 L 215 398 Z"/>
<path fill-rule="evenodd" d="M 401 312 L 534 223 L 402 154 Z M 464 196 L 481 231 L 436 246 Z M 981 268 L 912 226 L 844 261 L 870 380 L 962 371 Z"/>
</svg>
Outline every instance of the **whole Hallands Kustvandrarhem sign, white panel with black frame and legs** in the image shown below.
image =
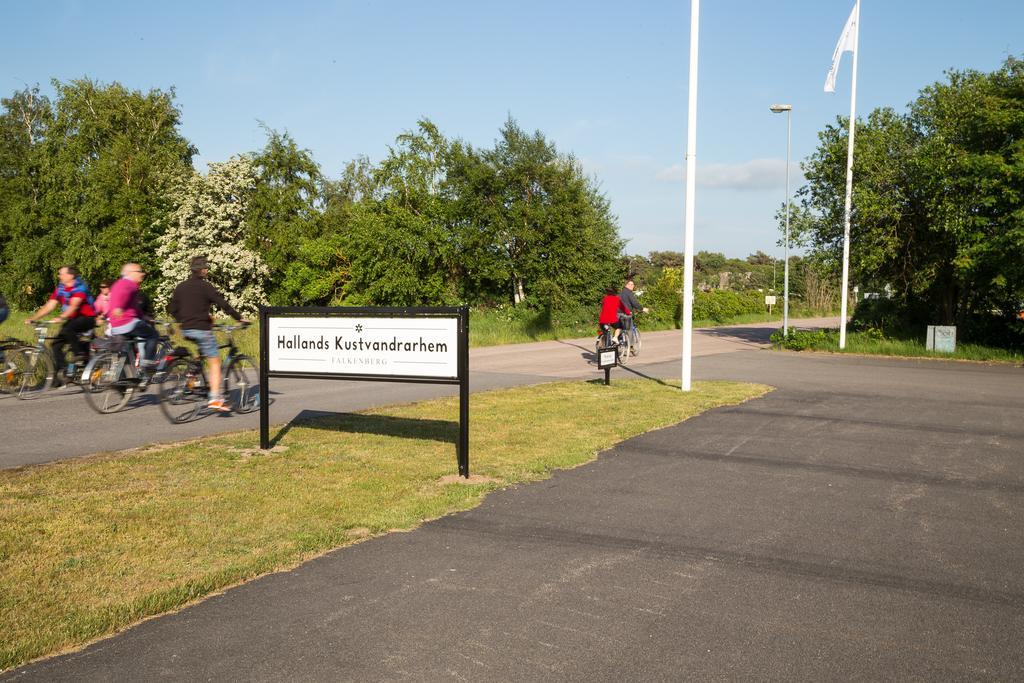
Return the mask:
<svg viewBox="0 0 1024 683">
<path fill-rule="evenodd" d="M 261 306 L 259 445 L 271 377 L 459 385 L 459 474 L 469 477 L 469 308 Z"/>
</svg>

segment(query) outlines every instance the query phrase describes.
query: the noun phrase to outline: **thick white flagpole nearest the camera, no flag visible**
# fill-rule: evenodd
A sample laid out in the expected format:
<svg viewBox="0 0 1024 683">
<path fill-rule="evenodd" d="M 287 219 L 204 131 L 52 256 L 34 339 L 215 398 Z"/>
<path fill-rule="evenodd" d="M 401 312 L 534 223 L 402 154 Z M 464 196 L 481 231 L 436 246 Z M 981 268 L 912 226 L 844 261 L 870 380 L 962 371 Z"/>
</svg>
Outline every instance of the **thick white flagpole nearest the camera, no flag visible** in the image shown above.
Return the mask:
<svg viewBox="0 0 1024 683">
<path fill-rule="evenodd" d="M 683 234 L 683 377 L 682 390 L 690 390 L 693 354 L 693 200 L 697 166 L 697 30 L 700 0 L 690 0 L 690 91 L 686 117 L 686 220 Z"/>
</svg>

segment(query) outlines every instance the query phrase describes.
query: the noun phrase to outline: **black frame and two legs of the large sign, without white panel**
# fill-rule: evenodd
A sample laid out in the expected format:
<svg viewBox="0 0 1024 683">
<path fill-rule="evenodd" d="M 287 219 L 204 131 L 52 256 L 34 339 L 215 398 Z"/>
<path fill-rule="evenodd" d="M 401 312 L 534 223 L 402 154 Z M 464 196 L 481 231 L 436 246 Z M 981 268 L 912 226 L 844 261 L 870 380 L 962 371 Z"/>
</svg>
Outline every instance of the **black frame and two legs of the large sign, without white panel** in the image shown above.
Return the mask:
<svg viewBox="0 0 1024 683">
<path fill-rule="evenodd" d="M 358 375 L 344 373 L 270 372 L 270 317 L 457 317 L 458 349 L 456 378 L 416 375 Z M 290 379 L 347 380 L 355 382 L 406 382 L 459 385 L 459 440 L 456 454 L 459 474 L 469 478 L 469 306 L 366 307 L 366 306 L 260 306 L 259 308 L 259 447 L 270 447 L 271 377 Z"/>
</svg>

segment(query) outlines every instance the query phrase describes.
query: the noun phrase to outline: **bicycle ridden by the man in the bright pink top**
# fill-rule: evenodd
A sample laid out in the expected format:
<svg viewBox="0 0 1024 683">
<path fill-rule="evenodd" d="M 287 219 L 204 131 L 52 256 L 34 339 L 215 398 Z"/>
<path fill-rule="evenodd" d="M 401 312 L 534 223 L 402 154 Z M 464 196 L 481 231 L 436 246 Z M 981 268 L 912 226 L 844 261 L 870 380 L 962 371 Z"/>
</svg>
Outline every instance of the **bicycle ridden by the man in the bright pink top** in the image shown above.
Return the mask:
<svg viewBox="0 0 1024 683">
<path fill-rule="evenodd" d="M 158 383 L 162 373 L 188 351 L 171 343 L 171 324 L 155 321 L 164 332 L 157 341 L 157 365 L 152 370 L 140 367 L 140 337 L 116 335 L 97 340 L 96 352 L 82 371 L 85 401 L 97 413 L 117 413 L 132 399 L 135 392 L 144 392 L 150 384 Z"/>
</svg>

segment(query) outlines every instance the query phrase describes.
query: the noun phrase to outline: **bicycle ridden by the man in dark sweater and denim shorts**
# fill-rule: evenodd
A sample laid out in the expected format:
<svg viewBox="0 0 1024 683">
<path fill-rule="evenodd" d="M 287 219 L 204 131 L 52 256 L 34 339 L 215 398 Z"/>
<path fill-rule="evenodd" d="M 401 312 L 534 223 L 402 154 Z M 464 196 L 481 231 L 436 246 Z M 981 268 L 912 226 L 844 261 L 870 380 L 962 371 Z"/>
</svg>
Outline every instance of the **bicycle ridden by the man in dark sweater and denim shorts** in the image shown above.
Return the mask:
<svg viewBox="0 0 1024 683">
<path fill-rule="evenodd" d="M 224 398 L 236 413 L 243 414 L 259 410 L 259 367 L 239 351 L 232 334 L 247 327 L 248 324 L 213 326 L 214 331 L 227 335 L 227 343 L 217 347 L 227 349 L 221 364 Z M 184 424 L 211 413 L 207 409 L 210 388 L 203 360 L 199 352 L 179 355 L 161 378 L 160 410 L 172 424 Z"/>
</svg>

